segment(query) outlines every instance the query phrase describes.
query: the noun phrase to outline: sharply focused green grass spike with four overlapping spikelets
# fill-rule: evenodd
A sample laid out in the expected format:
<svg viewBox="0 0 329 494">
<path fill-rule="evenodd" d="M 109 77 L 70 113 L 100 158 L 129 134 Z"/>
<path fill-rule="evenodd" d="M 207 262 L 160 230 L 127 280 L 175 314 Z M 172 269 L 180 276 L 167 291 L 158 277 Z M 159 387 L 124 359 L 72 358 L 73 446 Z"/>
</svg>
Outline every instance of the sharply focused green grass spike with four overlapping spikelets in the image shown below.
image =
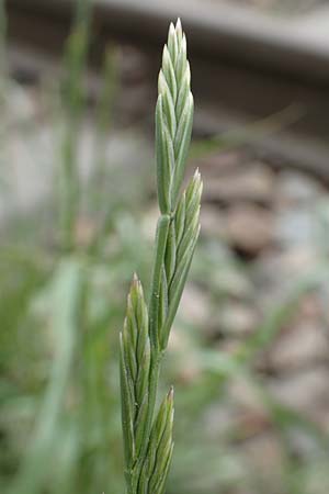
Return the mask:
<svg viewBox="0 0 329 494">
<path fill-rule="evenodd" d="M 193 124 L 186 38 L 170 25 L 158 80 L 157 189 L 160 217 L 149 304 L 134 276 L 121 334 L 122 425 L 128 494 L 161 494 L 171 463 L 173 389 L 155 417 L 160 363 L 200 233 L 202 181 L 181 193 Z"/>
</svg>

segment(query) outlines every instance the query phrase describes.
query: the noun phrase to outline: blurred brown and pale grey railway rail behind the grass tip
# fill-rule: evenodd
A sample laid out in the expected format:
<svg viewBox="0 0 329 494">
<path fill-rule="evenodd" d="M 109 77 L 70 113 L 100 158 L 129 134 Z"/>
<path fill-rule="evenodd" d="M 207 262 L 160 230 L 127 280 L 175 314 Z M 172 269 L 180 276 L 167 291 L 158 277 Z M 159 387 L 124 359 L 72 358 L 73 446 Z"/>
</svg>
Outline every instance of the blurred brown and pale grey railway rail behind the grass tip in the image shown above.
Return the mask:
<svg viewBox="0 0 329 494">
<path fill-rule="evenodd" d="M 27 64 L 18 56 L 27 49 L 42 71 L 45 59 L 61 52 L 72 10 L 70 0 L 11 0 L 14 64 Z M 168 21 L 178 15 L 191 40 L 196 132 L 216 135 L 279 113 L 281 131 L 241 137 L 277 166 L 303 168 L 329 182 L 329 9 L 277 19 L 215 0 L 95 0 L 93 68 L 115 40 L 138 46 L 156 70 Z M 292 105 L 298 109 L 293 119 L 294 112 L 282 113 Z"/>
</svg>

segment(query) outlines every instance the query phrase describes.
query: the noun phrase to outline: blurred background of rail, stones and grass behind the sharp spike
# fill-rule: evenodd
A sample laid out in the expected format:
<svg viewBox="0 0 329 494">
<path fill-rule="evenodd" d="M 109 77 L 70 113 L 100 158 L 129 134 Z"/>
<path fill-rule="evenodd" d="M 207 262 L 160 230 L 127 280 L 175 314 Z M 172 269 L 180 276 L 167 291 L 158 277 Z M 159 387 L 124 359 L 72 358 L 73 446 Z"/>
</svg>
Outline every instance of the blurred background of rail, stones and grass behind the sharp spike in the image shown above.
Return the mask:
<svg viewBox="0 0 329 494">
<path fill-rule="evenodd" d="M 168 494 L 329 492 L 328 2 L 0 0 L 1 493 L 124 492 L 118 332 L 178 16 L 204 197 Z"/>
</svg>

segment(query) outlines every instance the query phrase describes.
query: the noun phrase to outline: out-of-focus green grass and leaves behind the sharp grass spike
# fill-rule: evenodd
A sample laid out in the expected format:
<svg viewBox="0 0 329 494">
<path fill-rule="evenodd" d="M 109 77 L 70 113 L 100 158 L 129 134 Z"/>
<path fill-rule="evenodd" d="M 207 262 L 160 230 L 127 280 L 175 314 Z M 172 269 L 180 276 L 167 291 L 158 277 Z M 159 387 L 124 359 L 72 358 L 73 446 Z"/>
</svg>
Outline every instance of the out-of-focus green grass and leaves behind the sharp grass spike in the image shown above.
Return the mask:
<svg viewBox="0 0 329 494">
<path fill-rule="evenodd" d="M 52 94 L 58 156 L 47 204 L 12 213 L 1 224 L 0 491 L 5 494 L 123 492 L 117 335 L 132 273 L 137 271 L 145 285 L 149 279 L 152 246 L 140 225 L 149 206 L 152 164 L 129 172 L 115 162 L 107 166 L 111 109 L 120 90 L 117 54 L 111 47 L 93 110 L 94 169 L 87 181 L 79 179 L 81 126 L 90 112 L 84 85 L 88 18 L 78 11 L 65 76 Z M 11 83 L 7 80 L 3 91 Z M 1 105 L 5 115 L 5 94 Z M 3 124 L 0 142 L 7 132 Z M 211 153 L 214 141 L 195 149 L 198 156 Z M 231 296 L 225 280 L 245 270 L 222 243 L 203 238 L 191 278 L 220 306 Z M 177 390 L 170 494 L 328 492 L 328 438 L 316 424 L 276 403 L 253 367 L 257 355 L 294 316 L 300 296 L 322 276 L 320 267 L 303 277 L 232 352 L 213 348 L 200 327 L 179 317 L 180 336 L 164 362 L 163 382 L 166 388 L 175 383 Z M 232 380 L 252 388 L 276 434 L 279 484 L 271 486 L 265 474 L 246 462 L 243 430 L 229 424 L 213 430 Z M 291 441 L 296 429 L 315 445 L 311 458 L 296 457 Z"/>
</svg>

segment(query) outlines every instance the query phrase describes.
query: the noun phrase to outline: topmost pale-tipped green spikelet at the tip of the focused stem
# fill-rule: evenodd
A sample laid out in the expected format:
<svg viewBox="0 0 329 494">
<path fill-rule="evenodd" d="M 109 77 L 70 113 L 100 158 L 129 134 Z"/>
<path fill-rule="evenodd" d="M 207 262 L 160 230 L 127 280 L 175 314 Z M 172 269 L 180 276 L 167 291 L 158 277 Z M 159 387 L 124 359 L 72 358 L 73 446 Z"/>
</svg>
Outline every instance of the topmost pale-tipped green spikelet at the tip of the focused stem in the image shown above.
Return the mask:
<svg viewBox="0 0 329 494">
<path fill-rule="evenodd" d="M 180 20 L 169 27 L 158 81 L 156 110 L 157 178 L 162 214 L 174 211 L 191 142 L 194 103 L 186 37 Z"/>
</svg>

